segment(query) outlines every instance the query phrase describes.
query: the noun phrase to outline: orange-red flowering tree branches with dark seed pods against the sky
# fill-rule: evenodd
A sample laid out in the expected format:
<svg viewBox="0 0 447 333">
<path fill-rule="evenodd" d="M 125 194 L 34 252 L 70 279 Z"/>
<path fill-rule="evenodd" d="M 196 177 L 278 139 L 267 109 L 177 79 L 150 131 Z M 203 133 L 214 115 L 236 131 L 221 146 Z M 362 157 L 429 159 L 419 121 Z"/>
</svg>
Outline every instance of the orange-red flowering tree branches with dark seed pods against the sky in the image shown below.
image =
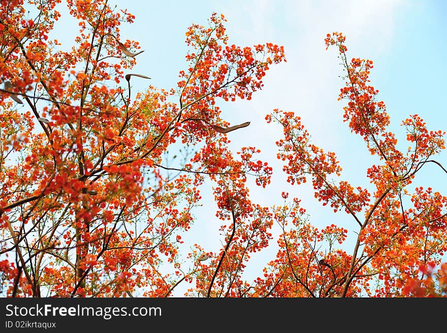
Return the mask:
<svg viewBox="0 0 447 333">
<path fill-rule="evenodd" d="M 318 201 L 358 224 L 352 254 L 341 246 L 348 230 L 334 224 L 318 230 L 298 198 L 288 202 L 283 193 L 284 205 L 272 207 L 251 202 L 247 177 L 266 187 L 272 168 L 256 158 L 255 147 L 236 154 L 229 148 L 227 133 L 249 122 L 231 125 L 218 102 L 250 99 L 269 67 L 285 61 L 282 47 L 231 45 L 225 17 L 213 14 L 209 26 L 187 30 L 188 68 L 176 87 L 149 86 L 133 96 L 131 83 L 150 78 L 129 73 L 143 52 L 120 35 L 132 14 L 106 0 L 68 0 L 80 30 L 67 51 L 49 38 L 59 0 L 1 3 L 5 295 L 161 297 L 186 282 L 194 285 L 188 296 L 445 295 L 445 264 L 432 272 L 447 247 L 446 197 L 408 189 L 426 163 L 442 168 L 431 158 L 444 149 L 444 132 L 410 116 L 403 126 L 412 146 L 401 152 L 387 131 L 385 103 L 369 85 L 372 61 L 348 62 L 341 34 L 325 41 L 338 47 L 346 71 L 345 121 L 378 159 L 368 169 L 374 192 L 336 183 L 335 153 L 313 145 L 293 112 L 274 110 L 266 119 L 282 126 L 278 158 L 288 181 L 311 179 Z M 194 147 L 181 168 L 164 165 L 173 145 Z M 208 183 L 225 240 L 218 253 L 196 245 L 185 258 L 178 251 L 182 235 Z M 262 277 L 245 281 L 250 256 L 272 245 L 274 223 L 281 229 L 277 256 Z"/>
</svg>

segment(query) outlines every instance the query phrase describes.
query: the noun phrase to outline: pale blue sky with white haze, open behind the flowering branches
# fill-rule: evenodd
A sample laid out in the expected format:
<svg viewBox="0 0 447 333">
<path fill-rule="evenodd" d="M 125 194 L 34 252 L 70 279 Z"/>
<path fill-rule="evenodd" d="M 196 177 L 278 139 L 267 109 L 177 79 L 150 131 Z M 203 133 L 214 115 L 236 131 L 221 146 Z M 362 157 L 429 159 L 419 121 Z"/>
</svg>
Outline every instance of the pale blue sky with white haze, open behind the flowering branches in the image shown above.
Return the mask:
<svg viewBox="0 0 447 333">
<path fill-rule="evenodd" d="M 291 187 L 285 182 L 274 144 L 281 137 L 280 128 L 267 125 L 264 118 L 275 108 L 295 111 L 302 117 L 313 143 L 337 153 L 343 168 L 342 178 L 353 186 L 369 186 L 366 170 L 377 160 L 368 154 L 363 140 L 351 134 L 342 122 L 345 104 L 337 101 L 343 86 L 339 78 L 342 67 L 336 50 L 325 50 L 327 33 L 343 32 L 349 58 L 374 61 L 371 84 L 387 104 L 392 121 L 390 129 L 397 132 L 400 142 L 405 141 L 405 134 L 399 124 L 410 114 L 422 116 L 429 129 L 447 130 L 444 116 L 447 5 L 444 1 L 134 0 L 112 3 L 126 6 L 136 15 L 134 24 L 121 26 L 121 37 L 140 42 L 145 52 L 137 57 L 132 72 L 150 76 L 150 84 L 157 87 L 176 86 L 178 72 L 187 69 L 184 32 L 193 22 L 206 25 L 213 12 L 222 13 L 228 19 L 230 44 L 252 46 L 272 42 L 284 46 L 288 62 L 272 66 L 263 90 L 253 94 L 249 102 L 222 102 L 220 107 L 223 117 L 232 124 L 251 121 L 249 127 L 229 134 L 234 151 L 242 146 L 256 146 L 263 151 L 262 159 L 274 168 L 273 182 L 267 189 L 251 186 L 253 202 L 278 205 L 280 193 L 289 191 L 301 197 L 303 207 L 318 227 L 335 223 L 355 230 L 357 224 L 344 213 L 334 214 L 330 208 L 322 207 L 314 199 L 310 185 Z M 70 26 L 64 17 L 61 24 Z M 69 30 L 63 29 L 67 39 L 76 34 Z M 134 87 L 144 91 L 147 81 L 136 81 Z M 447 165 L 447 152 L 437 160 Z M 432 165 L 426 169 L 414 186 L 431 186 L 442 192 L 447 175 Z M 216 207 L 209 189 L 203 193 L 204 207 L 196 211 L 197 220 L 188 232 L 191 238 L 187 242 L 202 244 L 206 250 L 216 252 L 223 238 L 218 235 L 219 221 L 215 218 Z M 274 249 L 255 256 L 256 270 L 247 272 L 247 278 L 260 275 L 262 267 L 274 256 Z M 181 295 L 182 288 L 176 295 Z"/>
</svg>

